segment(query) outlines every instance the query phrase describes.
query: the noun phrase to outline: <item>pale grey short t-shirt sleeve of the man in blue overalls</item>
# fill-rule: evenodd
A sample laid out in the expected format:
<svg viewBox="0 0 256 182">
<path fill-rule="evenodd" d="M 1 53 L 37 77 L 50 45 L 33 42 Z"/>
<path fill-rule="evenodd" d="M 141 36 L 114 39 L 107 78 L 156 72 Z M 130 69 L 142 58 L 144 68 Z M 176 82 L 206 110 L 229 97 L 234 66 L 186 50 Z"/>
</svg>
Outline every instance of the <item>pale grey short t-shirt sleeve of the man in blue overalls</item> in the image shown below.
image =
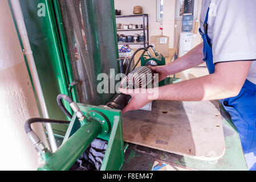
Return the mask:
<svg viewBox="0 0 256 182">
<path fill-rule="evenodd" d="M 256 60 L 255 1 L 218 1 L 209 11 L 213 63 Z"/>
</svg>

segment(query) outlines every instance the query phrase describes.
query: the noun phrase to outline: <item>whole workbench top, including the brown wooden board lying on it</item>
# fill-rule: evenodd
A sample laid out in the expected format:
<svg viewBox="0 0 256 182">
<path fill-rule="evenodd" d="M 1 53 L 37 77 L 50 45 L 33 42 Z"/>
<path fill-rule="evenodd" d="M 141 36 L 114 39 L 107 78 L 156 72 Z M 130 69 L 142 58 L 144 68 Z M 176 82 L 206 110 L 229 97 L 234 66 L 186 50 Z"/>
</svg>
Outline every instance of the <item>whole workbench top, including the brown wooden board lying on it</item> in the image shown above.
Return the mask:
<svg viewBox="0 0 256 182">
<path fill-rule="evenodd" d="M 129 144 L 123 170 L 151 170 L 156 162 L 176 169 L 247 169 L 237 130 L 218 101 L 153 101 L 152 111 L 129 111 L 122 119 Z"/>
</svg>

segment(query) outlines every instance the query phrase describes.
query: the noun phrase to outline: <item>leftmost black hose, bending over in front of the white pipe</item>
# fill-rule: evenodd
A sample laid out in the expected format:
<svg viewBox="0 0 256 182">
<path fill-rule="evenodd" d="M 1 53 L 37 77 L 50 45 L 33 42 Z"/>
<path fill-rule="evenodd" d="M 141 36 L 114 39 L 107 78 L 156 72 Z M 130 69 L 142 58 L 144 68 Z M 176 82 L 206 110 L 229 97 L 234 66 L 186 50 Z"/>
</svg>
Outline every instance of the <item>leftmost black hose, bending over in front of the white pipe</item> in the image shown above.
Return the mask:
<svg viewBox="0 0 256 182">
<path fill-rule="evenodd" d="M 30 119 L 27 119 L 27 121 L 25 122 L 25 125 L 24 125 L 26 133 L 29 133 L 30 131 L 32 131 L 32 128 L 31 128 L 32 123 L 69 124 L 70 121 L 46 119 L 46 118 L 30 118 Z"/>
</svg>

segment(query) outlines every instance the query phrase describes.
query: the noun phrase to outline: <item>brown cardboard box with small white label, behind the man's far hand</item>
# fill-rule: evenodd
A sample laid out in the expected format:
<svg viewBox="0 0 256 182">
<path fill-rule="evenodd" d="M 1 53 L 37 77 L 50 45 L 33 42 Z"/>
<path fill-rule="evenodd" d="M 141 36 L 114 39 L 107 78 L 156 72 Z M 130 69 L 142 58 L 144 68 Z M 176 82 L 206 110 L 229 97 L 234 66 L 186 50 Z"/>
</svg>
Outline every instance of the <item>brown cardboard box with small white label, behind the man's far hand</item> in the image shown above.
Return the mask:
<svg viewBox="0 0 256 182">
<path fill-rule="evenodd" d="M 162 56 L 169 56 L 169 36 L 164 35 L 153 35 L 151 38 L 151 45 L 155 47 L 158 53 L 161 53 Z"/>
</svg>

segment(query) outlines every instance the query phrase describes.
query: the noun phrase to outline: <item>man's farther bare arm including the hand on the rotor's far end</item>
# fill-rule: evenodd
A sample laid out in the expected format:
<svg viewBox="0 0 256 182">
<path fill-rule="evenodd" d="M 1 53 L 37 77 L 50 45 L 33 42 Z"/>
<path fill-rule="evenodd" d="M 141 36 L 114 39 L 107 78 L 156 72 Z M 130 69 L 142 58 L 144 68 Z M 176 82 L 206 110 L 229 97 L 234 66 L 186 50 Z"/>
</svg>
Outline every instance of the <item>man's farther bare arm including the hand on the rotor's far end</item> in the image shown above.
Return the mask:
<svg viewBox="0 0 256 182">
<path fill-rule="evenodd" d="M 174 73 L 182 72 L 189 68 L 194 68 L 197 65 L 204 63 L 202 60 L 204 59 L 203 47 L 204 44 L 200 43 L 184 56 L 178 58 L 172 63 L 158 67 L 151 67 L 151 69 L 159 73 L 159 80 L 161 81 Z"/>
</svg>

